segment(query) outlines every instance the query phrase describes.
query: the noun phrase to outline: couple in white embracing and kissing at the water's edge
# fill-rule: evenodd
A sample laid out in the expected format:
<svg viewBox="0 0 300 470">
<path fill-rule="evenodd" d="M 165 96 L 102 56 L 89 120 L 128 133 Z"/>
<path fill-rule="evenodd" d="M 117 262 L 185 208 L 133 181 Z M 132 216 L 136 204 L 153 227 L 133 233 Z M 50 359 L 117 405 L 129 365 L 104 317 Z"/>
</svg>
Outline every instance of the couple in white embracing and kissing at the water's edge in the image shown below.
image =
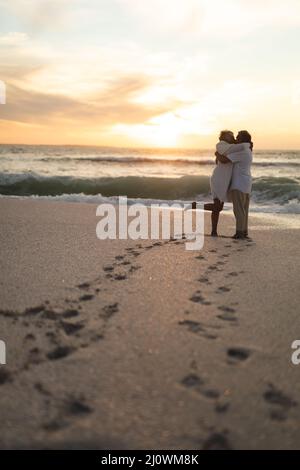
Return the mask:
<svg viewBox="0 0 300 470">
<path fill-rule="evenodd" d="M 218 221 L 224 202 L 232 202 L 236 219 L 235 239 L 248 238 L 248 213 L 252 187 L 251 164 L 253 143 L 248 131 L 222 131 L 216 146 L 216 167 L 210 185 L 214 202 L 205 204 L 211 211 L 211 235 L 218 236 Z"/>
</svg>

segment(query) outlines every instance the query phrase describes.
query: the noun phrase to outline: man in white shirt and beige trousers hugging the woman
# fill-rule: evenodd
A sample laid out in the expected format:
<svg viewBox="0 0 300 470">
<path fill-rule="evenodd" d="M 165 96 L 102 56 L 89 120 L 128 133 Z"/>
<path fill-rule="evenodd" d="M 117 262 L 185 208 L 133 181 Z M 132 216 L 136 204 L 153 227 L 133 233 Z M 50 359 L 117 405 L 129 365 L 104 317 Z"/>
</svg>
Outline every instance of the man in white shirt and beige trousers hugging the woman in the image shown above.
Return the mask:
<svg viewBox="0 0 300 470">
<path fill-rule="evenodd" d="M 236 219 L 235 239 L 248 238 L 248 213 L 252 187 L 251 164 L 253 143 L 247 131 L 240 131 L 236 138 L 237 145 L 231 147 L 224 155 L 216 152 L 221 163 L 233 163 L 230 196 Z M 243 144 L 243 145 L 240 145 Z M 229 153 L 230 152 L 230 153 Z"/>
</svg>

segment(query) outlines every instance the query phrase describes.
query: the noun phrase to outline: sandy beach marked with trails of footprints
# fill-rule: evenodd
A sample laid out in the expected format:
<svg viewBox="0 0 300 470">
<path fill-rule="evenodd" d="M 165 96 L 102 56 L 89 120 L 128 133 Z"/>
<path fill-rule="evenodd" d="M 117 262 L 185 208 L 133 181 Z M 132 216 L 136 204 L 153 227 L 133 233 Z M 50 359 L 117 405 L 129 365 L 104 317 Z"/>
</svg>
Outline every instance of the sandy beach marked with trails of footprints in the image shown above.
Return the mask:
<svg viewBox="0 0 300 470">
<path fill-rule="evenodd" d="M 95 213 L 0 200 L 0 448 L 299 448 L 299 229 L 222 214 L 188 252 Z"/>
</svg>

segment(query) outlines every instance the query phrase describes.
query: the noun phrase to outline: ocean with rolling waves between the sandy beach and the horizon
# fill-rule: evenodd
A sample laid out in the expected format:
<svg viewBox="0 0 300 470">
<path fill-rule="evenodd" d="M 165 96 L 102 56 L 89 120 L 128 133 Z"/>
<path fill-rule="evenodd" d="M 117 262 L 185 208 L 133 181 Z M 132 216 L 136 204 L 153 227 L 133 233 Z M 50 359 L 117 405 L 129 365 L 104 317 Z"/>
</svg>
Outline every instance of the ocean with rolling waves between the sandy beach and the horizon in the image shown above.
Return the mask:
<svg viewBox="0 0 300 470">
<path fill-rule="evenodd" d="M 214 150 L 0 145 L 0 195 L 71 202 L 210 200 Z M 252 212 L 300 213 L 300 151 L 255 151 Z"/>
</svg>

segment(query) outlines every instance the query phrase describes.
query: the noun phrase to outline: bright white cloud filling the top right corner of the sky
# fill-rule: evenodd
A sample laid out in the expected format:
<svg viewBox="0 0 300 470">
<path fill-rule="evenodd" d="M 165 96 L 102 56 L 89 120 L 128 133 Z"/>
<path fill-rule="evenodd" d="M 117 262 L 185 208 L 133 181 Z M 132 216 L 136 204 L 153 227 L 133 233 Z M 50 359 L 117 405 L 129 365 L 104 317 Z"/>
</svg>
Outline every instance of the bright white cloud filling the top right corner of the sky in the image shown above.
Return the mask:
<svg viewBox="0 0 300 470">
<path fill-rule="evenodd" d="M 244 36 L 264 27 L 300 24 L 298 0 L 117 0 L 140 22 L 159 34 Z"/>
</svg>

